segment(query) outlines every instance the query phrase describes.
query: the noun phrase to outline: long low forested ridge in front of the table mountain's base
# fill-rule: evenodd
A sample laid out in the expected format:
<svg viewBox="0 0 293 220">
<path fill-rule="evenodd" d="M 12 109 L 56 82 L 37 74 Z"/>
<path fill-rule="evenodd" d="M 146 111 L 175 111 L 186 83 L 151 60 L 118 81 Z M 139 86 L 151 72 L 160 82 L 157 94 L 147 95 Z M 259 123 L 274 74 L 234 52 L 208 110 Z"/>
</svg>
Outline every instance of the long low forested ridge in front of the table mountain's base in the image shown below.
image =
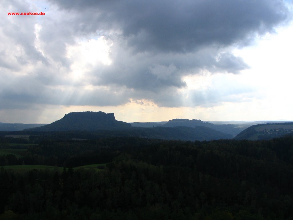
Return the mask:
<svg viewBox="0 0 293 220">
<path fill-rule="evenodd" d="M 163 140 L 182 140 L 182 141 L 209 141 L 217 139 L 230 139 L 233 136 L 216 131 L 207 127 L 127 127 L 123 129 L 111 129 L 111 130 L 92 130 L 92 131 L 33 131 L 26 129 L 23 131 L 0 131 L 1 137 L 21 137 L 21 136 L 34 136 L 33 139 L 38 138 L 53 138 L 58 140 L 85 140 L 96 138 L 110 138 L 110 137 L 140 137 L 140 138 L 152 138 Z M 16 143 L 15 138 L 9 139 L 9 143 Z M 36 143 L 39 143 L 38 141 Z"/>
</svg>

